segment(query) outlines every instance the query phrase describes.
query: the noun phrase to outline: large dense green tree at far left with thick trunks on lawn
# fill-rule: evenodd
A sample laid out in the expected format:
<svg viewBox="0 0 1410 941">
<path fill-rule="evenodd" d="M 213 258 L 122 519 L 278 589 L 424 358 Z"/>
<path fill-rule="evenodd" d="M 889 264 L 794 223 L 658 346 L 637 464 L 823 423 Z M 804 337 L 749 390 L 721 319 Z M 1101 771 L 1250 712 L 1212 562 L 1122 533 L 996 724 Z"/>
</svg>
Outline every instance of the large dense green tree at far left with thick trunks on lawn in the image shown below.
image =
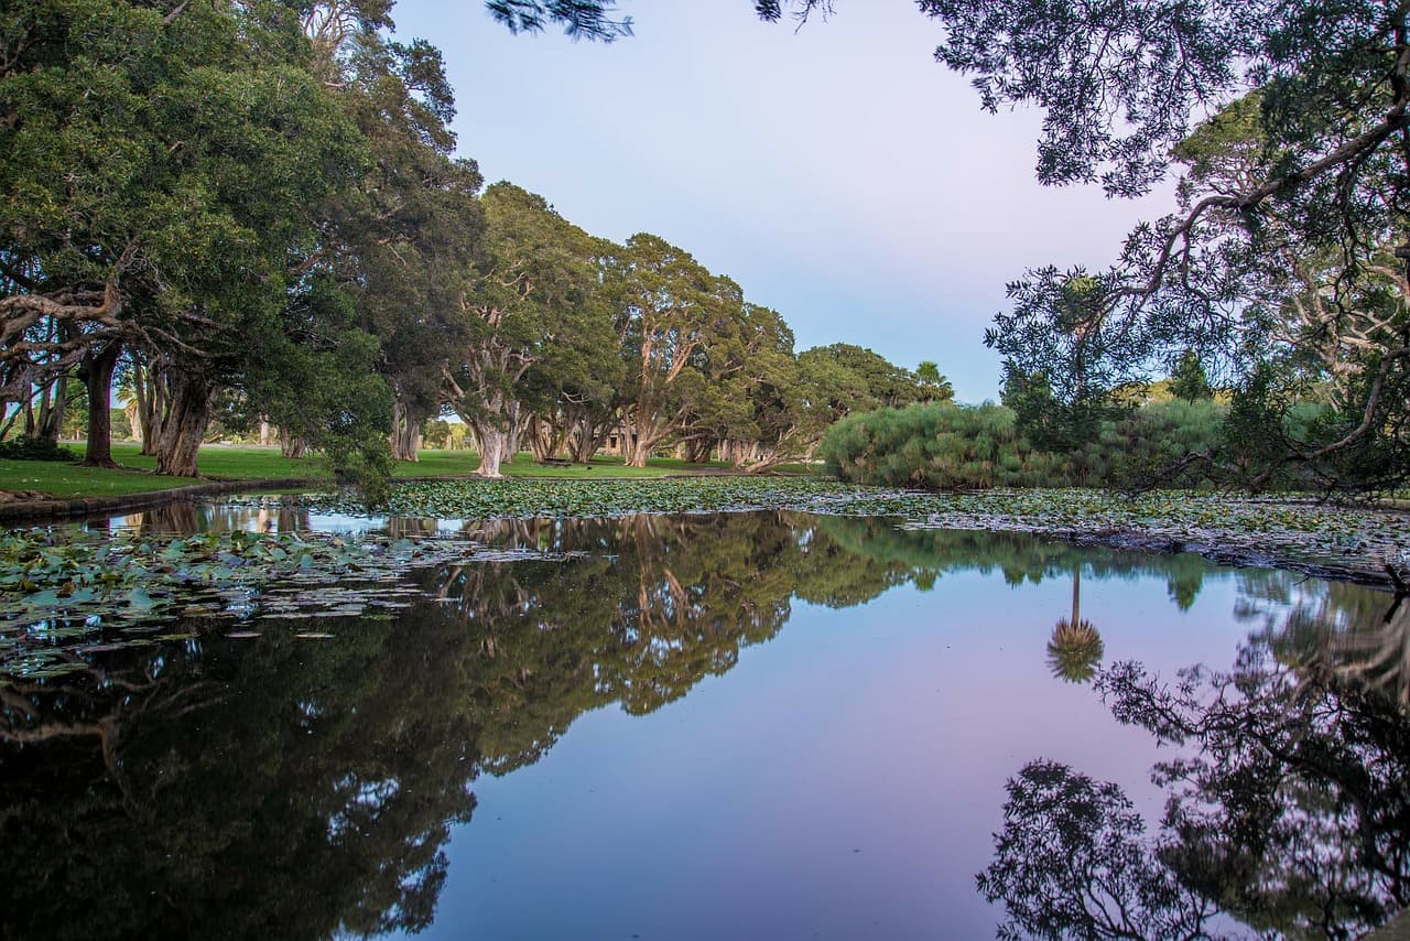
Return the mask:
<svg viewBox="0 0 1410 941">
<path fill-rule="evenodd" d="M 6 10 L 0 399 L 82 363 L 102 423 L 120 343 L 161 371 L 159 470 L 193 475 L 216 392 L 282 329 L 288 258 L 355 174 L 355 134 L 279 4 L 70 7 Z"/>
</svg>

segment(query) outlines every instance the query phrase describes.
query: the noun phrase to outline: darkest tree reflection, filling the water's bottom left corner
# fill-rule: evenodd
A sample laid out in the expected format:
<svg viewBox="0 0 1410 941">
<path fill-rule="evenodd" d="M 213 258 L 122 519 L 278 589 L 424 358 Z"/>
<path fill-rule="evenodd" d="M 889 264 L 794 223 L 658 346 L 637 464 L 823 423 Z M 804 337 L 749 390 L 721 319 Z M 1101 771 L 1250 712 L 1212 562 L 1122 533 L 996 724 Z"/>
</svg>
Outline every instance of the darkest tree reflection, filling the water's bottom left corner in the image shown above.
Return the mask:
<svg viewBox="0 0 1410 941">
<path fill-rule="evenodd" d="M 326 622 L 327 624 L 327 622 Z M 446 638 L 111 652 L 0 710 L 0 934 L 326 937 L 429 924 L 474 729 Z M 193 626 L 193 625 L 192 625 Z M 247 643 L 248 642 L 243 642 Z M 424 687 L 430 696 L 410 696 Z"/>
</svg>

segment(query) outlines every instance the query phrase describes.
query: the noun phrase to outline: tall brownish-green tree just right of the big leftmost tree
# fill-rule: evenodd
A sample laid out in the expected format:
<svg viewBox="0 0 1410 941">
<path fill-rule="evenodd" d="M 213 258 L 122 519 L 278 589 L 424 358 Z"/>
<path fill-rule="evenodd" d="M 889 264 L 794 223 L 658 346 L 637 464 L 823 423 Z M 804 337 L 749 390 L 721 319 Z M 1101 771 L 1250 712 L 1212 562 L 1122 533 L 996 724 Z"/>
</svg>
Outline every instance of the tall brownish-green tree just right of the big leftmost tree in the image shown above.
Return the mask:
<svg viewBox="0 0 1410 941">
<path fill-rule="evenodd" d="M 321 243 L 302 265 L 330 272 L 352 299 L 357 327 L 381 340 L 375 370 L 392 388 L 392 453 L 416 460 L 419 429 L 441 409 L 443 351 L 455 343 L 453 312 L 481 250 L 482 181 L 474 161 L 453 157 L 455 102 L 440 52 L 395 42 L 389 27 L 382 3 L 316 4 L 305 17 L 369 159 L 326 202 Z"/>
</svg>

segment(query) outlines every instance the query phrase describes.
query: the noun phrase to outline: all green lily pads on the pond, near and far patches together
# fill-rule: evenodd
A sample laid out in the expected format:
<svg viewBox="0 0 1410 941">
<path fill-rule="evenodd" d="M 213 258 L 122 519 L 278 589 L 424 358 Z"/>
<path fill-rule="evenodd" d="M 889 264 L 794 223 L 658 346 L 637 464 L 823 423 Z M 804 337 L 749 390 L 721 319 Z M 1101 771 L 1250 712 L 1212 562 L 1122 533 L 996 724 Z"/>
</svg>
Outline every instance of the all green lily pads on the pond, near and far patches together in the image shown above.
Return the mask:
<svg viewBox="0 0 1410 941">
<path fill-rule="evenodd" d="M 427 525 L 434 519 L 776 509 L 884 516 L 904 529 L 1019 532 L 1077 545 L 1191 550 L 1225 564 L 1361 581 L 1385 583 L 1387 567 L 1400 577 L 1410 569 L 1406 514 L 1299 498 L 1165 491 L 1128 499 L 1093 490 L 931 494 L 816 478 L 728 477 L 403 484 L 393 492 L 389 518 L 367 516 L 337 495 L 276 502 L 278 509 L 357 516 L 367 521 L 367 530 L 151 535 L 63 526 L 0 533 L 0 673 L 52 676 L 72 669 L 66 657 L 75 650 L 100 649 L 79 646 L 94 641 L 120 638 L 131 646 L 169 635 L 166 642 L 192 642 L 176 638 L 186 629 L 173 624 L 179 618 L 230 621 L 241 628 L 226 635 L 235 639 L 255 639 L 254 628 L 305 629 L 310 618 L 389 624 L 423 597 L 406 581 L 413 569 L 574 556 L 550 552 L 551 543 L 541 540 L 530 549 L 506 549 L 494 526 L 450 533 Z M 219 501 L 216 509 L 234 505 Z M 261 509 L 269 506 L 269 498 L 259 498 Z M 189 525 L 199 525 L 195 516 Z"/>
</svg>

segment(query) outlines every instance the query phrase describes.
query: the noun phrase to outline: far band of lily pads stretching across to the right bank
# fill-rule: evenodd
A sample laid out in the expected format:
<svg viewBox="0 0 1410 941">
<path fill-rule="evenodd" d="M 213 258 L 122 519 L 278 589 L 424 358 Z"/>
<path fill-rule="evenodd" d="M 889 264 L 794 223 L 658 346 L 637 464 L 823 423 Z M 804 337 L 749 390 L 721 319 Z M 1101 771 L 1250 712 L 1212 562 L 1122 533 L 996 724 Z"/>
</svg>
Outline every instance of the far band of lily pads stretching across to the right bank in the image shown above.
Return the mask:
<svg viewBox="0 0 1410 941">
<path fill-rule="evenodd" d="M 324 511 L 357 514 L 337 497 Z M 1230 564 L 1294 567 L 1383 583 L 1410 570 L 1410 515 L 1306 497 L 1101 490 L 897 491 L 818 478 L 697 477 L 623 481 L 430 481 L 402 484 L 391 512 L 441 519 L 622 516 L 792 509 L 893 516 L 904 528 L 1052 535 L 1131 549 L 1198 552 Z"/>
</svg>

